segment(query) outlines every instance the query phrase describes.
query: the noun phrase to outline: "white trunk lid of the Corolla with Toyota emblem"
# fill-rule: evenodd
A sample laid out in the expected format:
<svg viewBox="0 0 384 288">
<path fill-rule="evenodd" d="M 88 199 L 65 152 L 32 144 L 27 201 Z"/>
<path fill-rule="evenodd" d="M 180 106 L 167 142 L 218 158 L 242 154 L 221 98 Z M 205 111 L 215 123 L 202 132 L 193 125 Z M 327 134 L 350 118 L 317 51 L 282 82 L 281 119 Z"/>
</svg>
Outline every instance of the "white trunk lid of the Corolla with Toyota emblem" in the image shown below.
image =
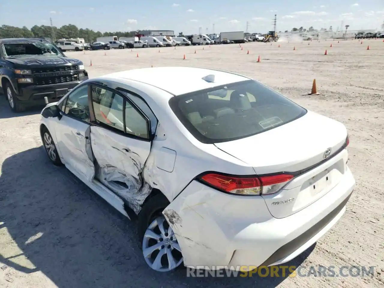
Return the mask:
<svg viewBox="0 0 384 288">
<path fill-rule="evenodd" d="M 262 196 L 271 214 L 283 218 L 312 204 L 338 184 L 348 160 L 346 150 L 340 152 L 346 137 L 342 123 L 308 111 L 285 125 L 215 146 L 251 165 L 257 175 L 298 174 L 279 192 Z"/>
</svg>

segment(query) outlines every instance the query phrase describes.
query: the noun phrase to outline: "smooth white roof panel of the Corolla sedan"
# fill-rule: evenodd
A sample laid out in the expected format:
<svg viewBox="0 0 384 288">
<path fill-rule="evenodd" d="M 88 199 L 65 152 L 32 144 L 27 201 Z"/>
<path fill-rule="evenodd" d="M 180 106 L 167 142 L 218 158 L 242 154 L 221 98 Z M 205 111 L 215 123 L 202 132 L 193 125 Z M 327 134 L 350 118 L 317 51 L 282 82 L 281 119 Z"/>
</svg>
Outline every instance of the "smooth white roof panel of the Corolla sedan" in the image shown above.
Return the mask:
<svg viewBox="0 0 384 288">
<path fill-rule="evenodd" d="M 208 75 L 214 75 L 213 83 L 202 79 Z M 250 79 L 235 73 L 193 67 L 141 68 L 107 74 L 99 78 L 109 78 L 113 80 L 130 79 L 139 81 L 174 95 L 181 95 Z"/>
</svg>

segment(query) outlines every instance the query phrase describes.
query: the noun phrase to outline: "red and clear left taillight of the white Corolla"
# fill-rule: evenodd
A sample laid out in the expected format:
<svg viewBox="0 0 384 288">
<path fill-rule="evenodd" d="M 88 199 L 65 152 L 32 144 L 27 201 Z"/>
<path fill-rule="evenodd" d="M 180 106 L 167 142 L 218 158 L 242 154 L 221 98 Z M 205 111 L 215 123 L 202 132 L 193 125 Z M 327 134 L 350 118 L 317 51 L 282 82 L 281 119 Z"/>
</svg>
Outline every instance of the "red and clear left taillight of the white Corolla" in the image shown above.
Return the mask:
<svg viewBox="0 0 384 288">
<path fill-rule="evenodd" d="M 240 177 L 208 173 L 200 177 L 200 180 L 216 189 L 243 195 L 273 194 L 278 192 L 292 179 L 293 175 L 290 174 Z"/>
</svg>

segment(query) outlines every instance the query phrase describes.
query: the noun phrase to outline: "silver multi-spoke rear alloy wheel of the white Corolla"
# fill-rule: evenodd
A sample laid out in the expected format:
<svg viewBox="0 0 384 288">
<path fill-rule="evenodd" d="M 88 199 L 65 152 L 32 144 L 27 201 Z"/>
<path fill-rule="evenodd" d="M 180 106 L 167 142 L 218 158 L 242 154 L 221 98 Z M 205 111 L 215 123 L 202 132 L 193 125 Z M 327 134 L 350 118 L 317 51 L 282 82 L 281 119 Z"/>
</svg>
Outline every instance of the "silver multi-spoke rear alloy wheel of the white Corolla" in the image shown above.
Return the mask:
<svg viewBox="0 0 384 288">
<path fill-rule="evenodd" d="M 159 272 L 174 270 L 183 262 L 175 233 L 164 216 L 157 217 L 147 228 L 142 251 L 148 266 Z"/>
</svg>

